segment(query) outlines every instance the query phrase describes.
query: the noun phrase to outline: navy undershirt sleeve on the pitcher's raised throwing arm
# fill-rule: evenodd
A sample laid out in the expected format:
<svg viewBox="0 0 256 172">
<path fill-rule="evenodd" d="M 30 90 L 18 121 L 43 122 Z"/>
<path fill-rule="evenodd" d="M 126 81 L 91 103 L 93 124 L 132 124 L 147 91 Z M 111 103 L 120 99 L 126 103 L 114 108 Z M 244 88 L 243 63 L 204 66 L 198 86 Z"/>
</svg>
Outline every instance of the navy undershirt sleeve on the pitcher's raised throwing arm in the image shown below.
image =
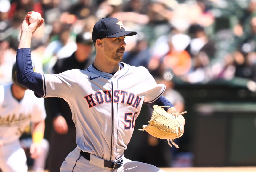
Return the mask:
<svg viewBox="0 0 256 172">
<path fill-rule="evenodd" d="M 33 70 L 30 48 L 21 48 L 17 50 L 16 69 L 18 83 L 34 91 L 37 97 L 43 97 L 42 74 L 36 73 Z"/>
</svg>

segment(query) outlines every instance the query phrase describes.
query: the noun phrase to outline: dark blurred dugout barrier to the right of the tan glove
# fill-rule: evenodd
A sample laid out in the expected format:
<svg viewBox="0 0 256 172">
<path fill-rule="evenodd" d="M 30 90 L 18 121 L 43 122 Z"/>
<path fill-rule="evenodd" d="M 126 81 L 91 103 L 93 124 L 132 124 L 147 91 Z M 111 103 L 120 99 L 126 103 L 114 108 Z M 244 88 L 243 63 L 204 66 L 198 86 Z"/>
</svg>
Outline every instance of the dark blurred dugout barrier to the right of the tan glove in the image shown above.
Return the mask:
<svg viewBox="0 0 256 172">
<path fill-rule="evenodd" d="M 194 166 L 256 165 L 256 92 L 247 83 L 242 78 L 176 82 L 188 111 L 180 148 L 193 152 Z"/>
</svg>

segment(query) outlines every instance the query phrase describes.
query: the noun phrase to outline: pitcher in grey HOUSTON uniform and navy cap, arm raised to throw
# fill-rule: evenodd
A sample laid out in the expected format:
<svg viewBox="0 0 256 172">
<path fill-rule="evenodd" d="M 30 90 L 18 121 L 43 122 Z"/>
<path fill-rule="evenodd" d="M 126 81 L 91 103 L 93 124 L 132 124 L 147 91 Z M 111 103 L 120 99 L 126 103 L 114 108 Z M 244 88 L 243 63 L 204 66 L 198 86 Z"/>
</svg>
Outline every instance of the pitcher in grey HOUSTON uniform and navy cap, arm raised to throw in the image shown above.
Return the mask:
<svg viewBox="0 0 256 172">
<path fill-rule="evenodd" d="M 30 41 L 44 19 L 30 24 L 30 14 L 22 23 L 17 77 L 38 97 L 60 97 L 70 106 L 77 147 L 68 154 L 60 171 L 160 171 L 153 165 L 124 157 L 143 102 L 175 110 L 162 96 L 165 85 L 156 84 L 146 68 L 120 62 L 126 47 L 125 37 L 136 32 L 125 31 L 122 21 L 116 18 L 103 18 L 93 28 L 96 58 L 91 66 L 86 70 L 40 74 L 32 69 Z M 177 118 L 184 125 L 182 115 Z"/>
</svg>

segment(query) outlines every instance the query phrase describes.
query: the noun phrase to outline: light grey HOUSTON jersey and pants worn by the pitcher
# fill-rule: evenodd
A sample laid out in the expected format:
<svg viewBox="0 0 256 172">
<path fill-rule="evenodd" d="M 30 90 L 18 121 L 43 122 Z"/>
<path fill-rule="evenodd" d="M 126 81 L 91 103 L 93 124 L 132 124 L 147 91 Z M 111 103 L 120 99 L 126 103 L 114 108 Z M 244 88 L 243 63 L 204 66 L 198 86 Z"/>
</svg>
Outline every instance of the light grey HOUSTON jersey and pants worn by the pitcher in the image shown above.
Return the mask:
<svg viewBox="0 0 256 172">
<path fill-rule="evenodd" d="M 65 99 L 76 125 L 77 148 L 67 156 L 60 171 L 111 171 L 103 166 L 103 159 L 114 161 L 124 156 L 143 101 L 153 102 L 164 92 L 165 85 L 157 84 L 146 68 L 121 64 L 123 68 L 114 75 L 92 65 L 84 71 L 42 74 L 43 97 Z M 90 162 L 79 155 L 80 150 L 92 154 Z M 159 170 L 123 159 L 116 171 Z"/>
</svg>

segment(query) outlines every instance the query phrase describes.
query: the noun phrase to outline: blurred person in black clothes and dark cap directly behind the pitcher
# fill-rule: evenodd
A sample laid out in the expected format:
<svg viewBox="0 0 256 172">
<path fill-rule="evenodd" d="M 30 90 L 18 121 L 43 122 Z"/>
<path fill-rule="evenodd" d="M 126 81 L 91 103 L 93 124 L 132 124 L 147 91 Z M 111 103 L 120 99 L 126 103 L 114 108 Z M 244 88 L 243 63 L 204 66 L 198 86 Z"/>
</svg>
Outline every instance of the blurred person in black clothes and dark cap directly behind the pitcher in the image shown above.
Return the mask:
<svg viewBox="0 0 256 172">
<path fill-rule="evenodd" d="M 76 36 L 76 51 L 69 57 L 58 59 L 52 73 L 59 74 L 70 69 L 87 69 L 94 61 L 93 42 L 90 32 Z M 48 167 L 50 172 L 60 170 L 69 152 L 76 148 L 76 128 L 68 103 L 62 98 L 45 98 L 46 112 L 52 117 Z"/>
</svg>

